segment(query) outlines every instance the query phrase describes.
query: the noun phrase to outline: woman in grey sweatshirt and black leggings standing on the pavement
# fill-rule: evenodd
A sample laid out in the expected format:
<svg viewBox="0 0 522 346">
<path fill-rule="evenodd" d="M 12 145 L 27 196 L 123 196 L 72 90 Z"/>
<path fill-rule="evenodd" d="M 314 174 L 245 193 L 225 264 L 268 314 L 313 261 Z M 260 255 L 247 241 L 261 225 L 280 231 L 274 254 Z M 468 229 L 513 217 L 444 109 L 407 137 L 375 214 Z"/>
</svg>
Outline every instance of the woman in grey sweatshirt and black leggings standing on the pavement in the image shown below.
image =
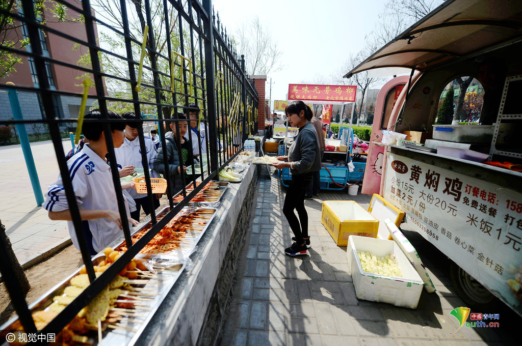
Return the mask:
<svg viewBox="0 0 522 346">
<path fill-rule="evenodd" d="M 312 122 L 312 109 L 302 101 L 294 101 L 285 109 L 288 120 L 292 127 L 298 127 L 299 132 L 294 137 L 288 151 L 288 156 L 277 156 L 281 161 L 274 164 L 277 169 L 290 168 L 292 181 L 284 197 L 283 214 L 294 233 L 293 243 L 284 249 L 287 255 L 304 255 L 308 253 L 310 237 L 308 235 L 308 214 L 304 207 L 305 190 L 312 182 L 312 174 L 321 169 L 321 152 L 317 133 Z M 299 214 L 295 216 L 294 209 Z"/>
</svg>

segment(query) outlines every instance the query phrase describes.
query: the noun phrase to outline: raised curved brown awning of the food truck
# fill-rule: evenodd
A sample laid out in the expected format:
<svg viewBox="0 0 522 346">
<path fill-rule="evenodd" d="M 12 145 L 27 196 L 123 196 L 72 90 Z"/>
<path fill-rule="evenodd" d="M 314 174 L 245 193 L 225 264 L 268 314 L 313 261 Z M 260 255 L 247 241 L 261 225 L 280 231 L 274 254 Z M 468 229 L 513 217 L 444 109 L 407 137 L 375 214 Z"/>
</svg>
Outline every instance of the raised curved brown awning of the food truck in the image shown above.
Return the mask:
<svg viewBox="0 0 522 346">
<path fill-rule="evenodd" d="M 518 41 L 522 1 L 446 0 L 343 77 L 386 67 L 426 71 Z"/>
</svg>

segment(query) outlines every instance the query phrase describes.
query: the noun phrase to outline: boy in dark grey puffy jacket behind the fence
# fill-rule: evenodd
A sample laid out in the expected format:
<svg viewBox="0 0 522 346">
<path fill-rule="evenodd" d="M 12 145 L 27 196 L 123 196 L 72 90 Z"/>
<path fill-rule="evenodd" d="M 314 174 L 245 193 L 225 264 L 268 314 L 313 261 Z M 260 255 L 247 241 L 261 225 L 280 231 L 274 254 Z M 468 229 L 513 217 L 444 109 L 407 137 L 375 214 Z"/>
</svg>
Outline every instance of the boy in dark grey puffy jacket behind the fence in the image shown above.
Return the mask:
<svg viewBox="0 0 522 346">
<path fill-rule="evenodd" d="M 177 119 L 180 121 L 173 121 L 170 123 L 172 131 L 165 134 L 165 145 L 167 148 L 164 149 L 162 146 L 158 148 L 156 157 L 153 162 L 153 169 L 167 177 L 165 173 L 165 165 L 163 164 L 163 155 L 167 153 L 167 162 L 169 165 L 169 178 L 170 178 L 170 192 L 172 195 L 183 189 L 183 183 L 181 179 L 181 170 L 186 171 L 187 165 L 191 165 L 194 160 L 192 153 L 192 146 L 184 136 L 188 131 L 187 118 L 183 113 L 177 114 Z M 176 127 L 180 131 L 180 142 L 178 143 L 176 136 Z M 181 152 L 181 155 L 180 155 Z M 188 177 L 185 176 L 185 182 L 188 183 Z"/>
</svg>

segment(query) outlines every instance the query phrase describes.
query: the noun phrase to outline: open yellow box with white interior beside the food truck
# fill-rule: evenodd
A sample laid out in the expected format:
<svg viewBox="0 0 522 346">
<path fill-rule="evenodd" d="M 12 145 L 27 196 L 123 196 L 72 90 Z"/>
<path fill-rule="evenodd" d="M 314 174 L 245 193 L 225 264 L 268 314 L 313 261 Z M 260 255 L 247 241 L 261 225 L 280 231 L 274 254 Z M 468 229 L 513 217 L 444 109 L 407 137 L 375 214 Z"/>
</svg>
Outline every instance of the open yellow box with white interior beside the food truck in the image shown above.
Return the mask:
<svg viewBox="0 0 522 346">
<path fill-rule="evenodd" d="M 379 221 L 354 201 L 324 201 L 321 223 L 339 246 L 348 237 L 377 237 Z"/>
</svg>

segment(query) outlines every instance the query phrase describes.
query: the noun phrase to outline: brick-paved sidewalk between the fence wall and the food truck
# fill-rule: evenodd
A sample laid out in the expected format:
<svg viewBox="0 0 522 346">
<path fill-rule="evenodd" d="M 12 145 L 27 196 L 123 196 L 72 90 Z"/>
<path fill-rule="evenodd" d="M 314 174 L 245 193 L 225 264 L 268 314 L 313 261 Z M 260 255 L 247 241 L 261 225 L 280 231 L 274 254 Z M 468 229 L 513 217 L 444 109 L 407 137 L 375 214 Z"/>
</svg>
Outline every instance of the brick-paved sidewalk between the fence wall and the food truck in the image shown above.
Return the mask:
<svg viewBox="0 0 522 346">
<path fill-rule="evenodd" d="M 308 255 L 287 256 L 284 248 L 293 234 L 282 214 L 284 195 L 279 180 L 260 175 L 256 216 L 245 236 L 222 346 L 518 344 L 513 325 L 522 319 L 500 301 L 494 311 L 478 312 L 500 314 L 501 328 L 464 326 L 450 334 L 458 323 L 449 313 L 467 305 L 449 279 L 450 261 L 416 232 L 405 231 L 437 292 L 423 291 L 414 310 L 357 299 L 346 246 L 337 246 L 321 224 L 322 201 L 355 200 L 367 208 L 369 195 L 321 191 L 305 201 L 312 248 Z"/>
</svg>

